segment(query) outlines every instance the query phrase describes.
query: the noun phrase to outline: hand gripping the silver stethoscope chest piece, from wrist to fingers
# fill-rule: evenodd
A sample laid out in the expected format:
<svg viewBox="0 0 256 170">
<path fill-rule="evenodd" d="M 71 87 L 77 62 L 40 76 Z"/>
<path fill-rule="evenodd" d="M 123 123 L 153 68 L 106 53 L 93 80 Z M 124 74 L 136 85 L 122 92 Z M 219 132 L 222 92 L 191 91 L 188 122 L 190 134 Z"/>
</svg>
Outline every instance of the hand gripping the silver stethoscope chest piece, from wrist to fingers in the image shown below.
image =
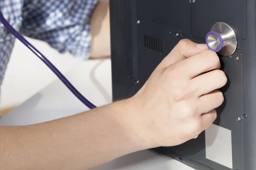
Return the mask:
<svg viewBox="0 0 256 170">
<path fill-rule="evenodd" d="M 216 89 L 227 77 L 219 69 L 217 54 L 206 45 L 181 40 L 131 98 L 138 105 L 140 135 L 149 138 L 152 147 L 197 138 L 215 121 L 215 108 L 224 101 Z"/>
</svg>

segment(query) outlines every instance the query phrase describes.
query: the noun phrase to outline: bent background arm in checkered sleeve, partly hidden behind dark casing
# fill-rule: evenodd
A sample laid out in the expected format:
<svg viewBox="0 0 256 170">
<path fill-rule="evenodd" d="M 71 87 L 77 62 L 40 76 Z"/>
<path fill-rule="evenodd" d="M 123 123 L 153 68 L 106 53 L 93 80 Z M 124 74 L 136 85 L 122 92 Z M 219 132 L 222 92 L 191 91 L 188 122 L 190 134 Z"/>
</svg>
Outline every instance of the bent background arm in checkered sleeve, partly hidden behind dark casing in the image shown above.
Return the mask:
<svg viewBox="0 0 256 170">
<path fill-rule="evenodd" d="M 110 57 L 109 21 L 108 0 L 31 0 L 24 2 L 20 33 L 74 57 Z"/>
</svg>

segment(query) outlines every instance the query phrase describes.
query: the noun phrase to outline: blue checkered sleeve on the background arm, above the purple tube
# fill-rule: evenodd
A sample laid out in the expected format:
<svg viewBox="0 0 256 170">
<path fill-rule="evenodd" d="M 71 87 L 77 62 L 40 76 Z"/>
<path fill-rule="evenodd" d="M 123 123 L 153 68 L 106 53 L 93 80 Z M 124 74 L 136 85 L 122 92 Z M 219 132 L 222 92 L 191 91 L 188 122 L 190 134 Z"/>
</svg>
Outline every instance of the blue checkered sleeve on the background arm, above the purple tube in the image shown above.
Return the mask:
<svg viewBox="0 0 256 170">
<path fill-rule="evenodd" d="M 20 33 L 60 53 L 90 57 L 90 16 L 99 0 L 24 0 Z"/>
</svg>

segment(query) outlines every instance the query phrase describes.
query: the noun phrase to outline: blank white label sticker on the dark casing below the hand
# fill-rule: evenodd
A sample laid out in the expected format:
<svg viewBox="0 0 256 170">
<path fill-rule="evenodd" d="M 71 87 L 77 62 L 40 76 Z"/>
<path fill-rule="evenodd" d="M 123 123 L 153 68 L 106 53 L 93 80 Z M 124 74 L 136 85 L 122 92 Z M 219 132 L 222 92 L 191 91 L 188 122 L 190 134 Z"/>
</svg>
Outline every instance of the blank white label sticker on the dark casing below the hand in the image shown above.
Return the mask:
<svg viewBox="0 0 256 170">
<path fill-rule="evenodd" d="M 206 159 L 233 169 L 231 130 L 212 124 L 205 130 Z"/>
</svg>

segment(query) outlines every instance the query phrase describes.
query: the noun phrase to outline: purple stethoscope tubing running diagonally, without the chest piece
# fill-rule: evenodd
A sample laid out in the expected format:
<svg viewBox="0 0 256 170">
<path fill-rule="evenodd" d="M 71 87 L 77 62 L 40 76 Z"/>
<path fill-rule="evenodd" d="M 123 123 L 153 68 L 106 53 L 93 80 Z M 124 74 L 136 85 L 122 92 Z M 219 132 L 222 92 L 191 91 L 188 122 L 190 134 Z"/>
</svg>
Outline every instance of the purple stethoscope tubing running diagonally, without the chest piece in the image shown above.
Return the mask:
<svg viewBox="0 0 256 170">
<path fill-rule="evenodd" d="M 67 86 L 67 88 L 88 108 L 96 108 L 91 102 L 89 102 L 84 96 L 82 96 L 79 91 L 64 77 L 63 74 L 46 58 L 41 54 L 38 49 L 36 49 L 32 44 L 30 44 L 21 34 L 19 34 L 3 17 L 3 14 L 0 12 L 0 22 L 6 27 L 11 34 L 13 34 L 18 40 L 20 40 L 27 48 L 29 48 L 35 55 L 37 55 L 55 74 L 56 76 Z"/>
</svg>

